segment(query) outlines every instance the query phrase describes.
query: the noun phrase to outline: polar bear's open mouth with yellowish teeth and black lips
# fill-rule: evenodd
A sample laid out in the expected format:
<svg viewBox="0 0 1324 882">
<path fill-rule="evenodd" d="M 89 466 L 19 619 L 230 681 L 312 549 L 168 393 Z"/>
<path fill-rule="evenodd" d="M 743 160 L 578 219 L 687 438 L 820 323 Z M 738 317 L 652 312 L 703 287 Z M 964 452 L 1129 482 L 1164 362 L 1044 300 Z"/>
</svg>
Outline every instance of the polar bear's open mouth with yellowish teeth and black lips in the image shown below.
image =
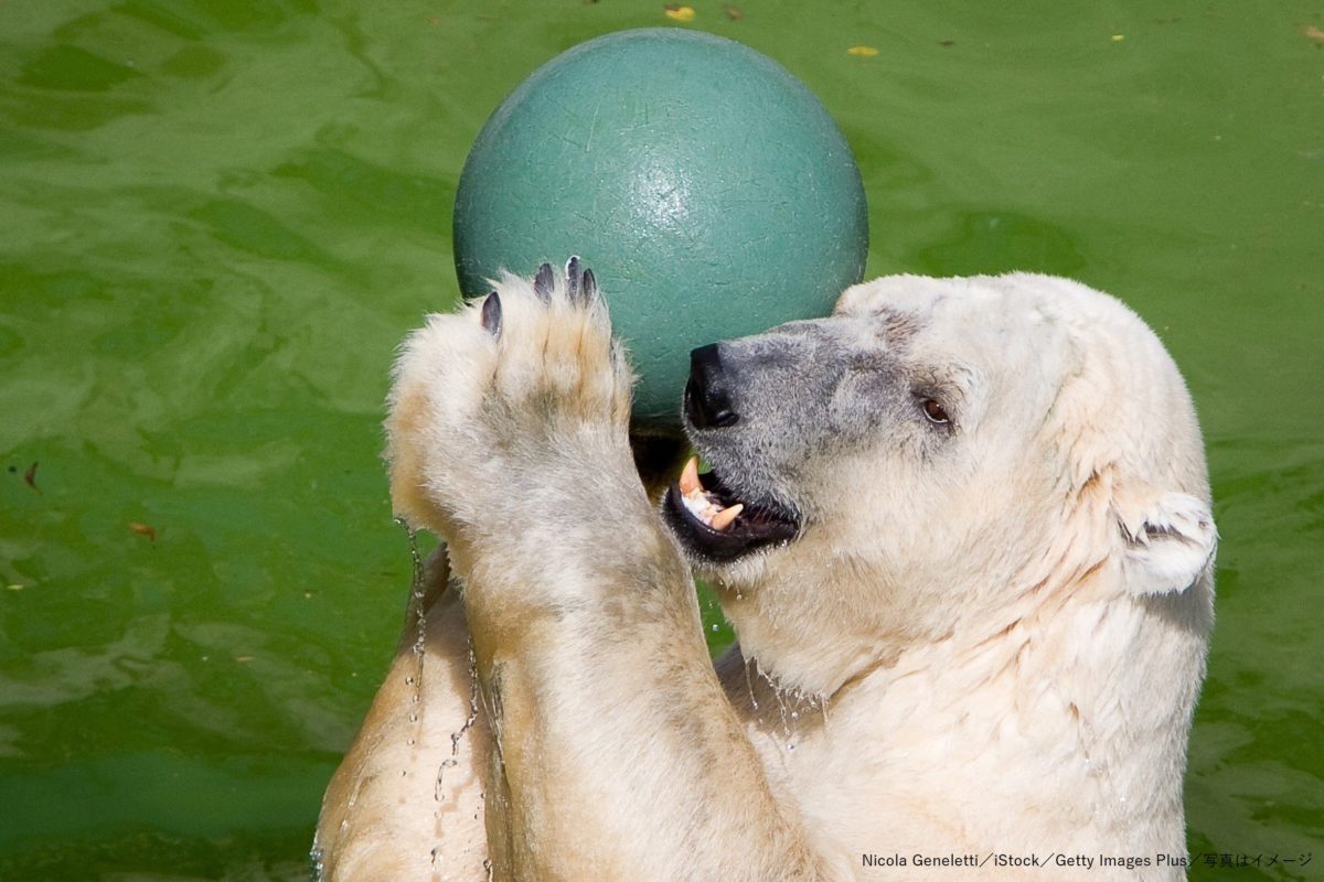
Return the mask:
<svg viewBox="0 0 1324 882">
<path fill-rule="evenodd" d="M 765 545 L 789 542 L 800 532 L 798 520 L 789 512 L 737 499 L 715 472 L 699 475 L 695 458 L 667 489 L 662 512 L 692 553 L 719 563 Z"/>
</svg>

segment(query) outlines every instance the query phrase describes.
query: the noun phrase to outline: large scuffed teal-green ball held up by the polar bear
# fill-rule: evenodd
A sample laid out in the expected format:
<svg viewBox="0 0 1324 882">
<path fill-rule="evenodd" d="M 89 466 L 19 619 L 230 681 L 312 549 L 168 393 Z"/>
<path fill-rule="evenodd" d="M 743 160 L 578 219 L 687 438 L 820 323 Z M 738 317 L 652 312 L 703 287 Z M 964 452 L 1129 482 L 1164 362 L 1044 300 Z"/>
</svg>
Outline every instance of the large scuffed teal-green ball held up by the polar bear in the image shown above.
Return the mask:
<svg viewBox="0 0 1324 882">
<path fill-rule="evenodd" d="M 869 249 L 859 169 L 809 89 L 673 28 L 534 71 L 478 134 L 454 230 L 466 296 L 580 255 L 639 374 L 636 423 L 661 432 L 679 430 L 691 349 L 826 315 Z"/>
</svg>

